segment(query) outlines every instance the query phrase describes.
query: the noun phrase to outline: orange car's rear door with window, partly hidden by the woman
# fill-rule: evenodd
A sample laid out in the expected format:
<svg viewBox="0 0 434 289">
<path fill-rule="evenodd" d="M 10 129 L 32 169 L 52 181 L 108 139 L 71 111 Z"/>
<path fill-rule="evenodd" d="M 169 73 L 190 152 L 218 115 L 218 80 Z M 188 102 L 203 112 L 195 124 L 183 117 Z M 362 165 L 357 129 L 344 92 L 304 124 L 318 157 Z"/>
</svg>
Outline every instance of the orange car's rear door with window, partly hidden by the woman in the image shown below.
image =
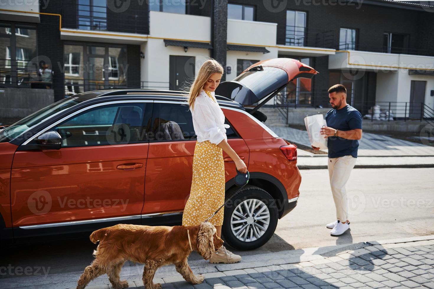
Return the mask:
<svg viewBox="0 0 434 289">
<path fill-rule="evenodd" d="M 225 121 L 225 123 L 228 123 Z M 196 135 L 188 105 L 155 101 L 149 136 L 142 222 L 161 213 L 181 215 L 190 195 Z M 248 163 L 246 143 L 233 128 L 226 129 L 228 143 Z M 235 164 L 223 152 L 227 180 L 236 175 Z M 217 209 L 217 208 L 216 208 Z"/>
</svg>

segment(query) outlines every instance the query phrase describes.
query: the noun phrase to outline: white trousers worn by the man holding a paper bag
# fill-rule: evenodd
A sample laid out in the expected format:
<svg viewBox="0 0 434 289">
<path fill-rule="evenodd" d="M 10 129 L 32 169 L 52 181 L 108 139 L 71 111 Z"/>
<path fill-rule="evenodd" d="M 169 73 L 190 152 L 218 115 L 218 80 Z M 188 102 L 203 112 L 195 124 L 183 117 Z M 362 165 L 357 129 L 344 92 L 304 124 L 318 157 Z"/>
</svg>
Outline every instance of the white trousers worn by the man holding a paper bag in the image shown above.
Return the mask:
<svg viewBox="0 0 434 289">
<path fill-rule="evenodd" d="M 348 201 L 345 191 L 351 170 L 354 168 L 357 158 L 353 156 L 341 156 L 339 158 L 327 158 L 329 169 L 330 187 L 336 206 L 336 219 L 345 222 L 348 220 Z"/>
</svg>

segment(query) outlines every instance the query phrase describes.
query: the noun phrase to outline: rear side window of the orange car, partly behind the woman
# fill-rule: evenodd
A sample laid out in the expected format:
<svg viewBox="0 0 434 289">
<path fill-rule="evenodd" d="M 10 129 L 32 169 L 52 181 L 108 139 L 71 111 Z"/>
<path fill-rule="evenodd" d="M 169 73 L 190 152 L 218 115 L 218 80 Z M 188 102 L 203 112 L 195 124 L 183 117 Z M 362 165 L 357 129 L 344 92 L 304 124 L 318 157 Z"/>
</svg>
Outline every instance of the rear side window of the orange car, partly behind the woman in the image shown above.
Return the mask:
<svg viewBox="0 0 434 289">
<path fill-rule="evenodd" d="M 185 104 L 154 103 L 149 141 L 196 140 L 191 111 Z M 227 120 L 225 123 L 229 124 Z M 229 124 L 230 125 L 230 124 Z M 232 126 L 227 137 L 239 137 Z"/>
</svg>

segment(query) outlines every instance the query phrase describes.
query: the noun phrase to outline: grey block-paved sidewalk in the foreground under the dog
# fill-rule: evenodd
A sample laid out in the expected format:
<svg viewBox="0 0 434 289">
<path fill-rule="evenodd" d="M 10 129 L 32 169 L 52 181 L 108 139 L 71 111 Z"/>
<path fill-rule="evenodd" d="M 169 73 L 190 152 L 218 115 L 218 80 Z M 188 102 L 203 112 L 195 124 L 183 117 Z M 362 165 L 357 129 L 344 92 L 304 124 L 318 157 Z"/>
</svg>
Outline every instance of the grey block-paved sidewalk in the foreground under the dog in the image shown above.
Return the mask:
<svg viewBox="0 0 434 289">
<path fill-rule="evenodd" d="M 235 264 L 210 264 L 205 260 L 189 264 L 195 274 L 205 277 L 203 283 L 187 283 L 173 266 L 158 269 L 154 282 L 163 288 L 179 289 L 434 289 L 434 235 L 247 255 Z M 123 267 L 121 279 L 128 280 L 129 288 L 144 288 L 139 272 L 143 266 L 132 267 Z M 76 272 L 69 279 L 62 274 L 6 278 L 0 279 L 0 286 L 75 288 L 80 274 Z M 33 286 L 20 286 L 28 278 L 32 278 Z M 86 288 L 112 287 L 103 275 Z"/>
</svg>

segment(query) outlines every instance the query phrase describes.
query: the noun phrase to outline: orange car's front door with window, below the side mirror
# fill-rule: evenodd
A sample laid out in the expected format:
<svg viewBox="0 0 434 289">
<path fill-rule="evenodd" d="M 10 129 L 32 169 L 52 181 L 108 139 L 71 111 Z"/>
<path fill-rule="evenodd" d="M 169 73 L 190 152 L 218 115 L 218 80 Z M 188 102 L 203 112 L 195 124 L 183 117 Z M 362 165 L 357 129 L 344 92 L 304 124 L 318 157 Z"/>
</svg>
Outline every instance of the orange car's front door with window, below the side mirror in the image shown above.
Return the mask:
<svg viewBox="0 0 434 289">
<path fill-rule="evenodd" d="M 45 129 L 60 134 L 60 149 L 19 147 L 11 172 L 14 230 L 119 217 L 139 224 L 151 110 L 145 100 L 94 104 Z"/>
</svg>

